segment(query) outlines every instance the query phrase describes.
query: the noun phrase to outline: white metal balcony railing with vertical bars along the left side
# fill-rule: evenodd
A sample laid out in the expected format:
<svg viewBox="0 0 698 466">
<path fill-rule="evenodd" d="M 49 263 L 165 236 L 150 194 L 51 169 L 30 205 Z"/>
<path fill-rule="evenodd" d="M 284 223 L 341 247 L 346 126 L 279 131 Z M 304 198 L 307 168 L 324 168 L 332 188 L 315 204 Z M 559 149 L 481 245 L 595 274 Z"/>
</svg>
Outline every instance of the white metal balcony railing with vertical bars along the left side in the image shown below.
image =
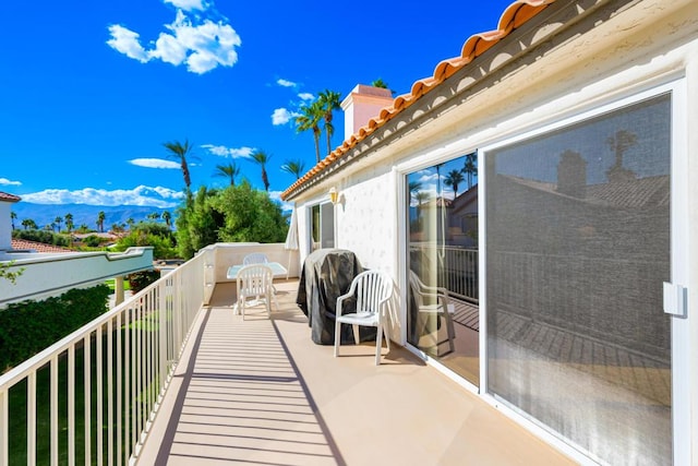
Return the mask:
<svg viewBox="0 0 698 466">
<path fill-rule="evenodd" d="M 205 271 L 214 253 L 203 250 L 1 375 L 0 465 L 136 458 L 213 285 Z"/>
</svg>

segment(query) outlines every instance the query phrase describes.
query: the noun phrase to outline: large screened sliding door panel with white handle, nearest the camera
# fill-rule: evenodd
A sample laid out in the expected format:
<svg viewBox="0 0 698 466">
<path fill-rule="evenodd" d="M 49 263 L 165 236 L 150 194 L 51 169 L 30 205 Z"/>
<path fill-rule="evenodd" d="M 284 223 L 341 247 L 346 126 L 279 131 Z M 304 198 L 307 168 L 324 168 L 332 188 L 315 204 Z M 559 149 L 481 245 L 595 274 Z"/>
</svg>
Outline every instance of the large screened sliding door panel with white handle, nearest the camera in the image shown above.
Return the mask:
<svg viewBox="0 0 698 466">
<path fill-rule="evenodd" d="M 485 151 L 486 391 L 609 464 L 672 458 L 672 96 Z"/>
</svg>

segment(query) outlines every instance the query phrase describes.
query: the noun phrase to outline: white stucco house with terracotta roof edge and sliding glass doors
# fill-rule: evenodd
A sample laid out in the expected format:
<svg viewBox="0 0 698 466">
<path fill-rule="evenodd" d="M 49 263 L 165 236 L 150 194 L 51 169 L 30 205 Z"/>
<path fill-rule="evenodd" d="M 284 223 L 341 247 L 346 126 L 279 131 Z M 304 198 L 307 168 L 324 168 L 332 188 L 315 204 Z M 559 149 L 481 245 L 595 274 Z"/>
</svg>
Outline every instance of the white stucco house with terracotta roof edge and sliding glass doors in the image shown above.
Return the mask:
<svg viewBox="0 0 698 466">
<path fill-rule="evenodd" d="M 393 339 L 578 461 L 698 464 L 698 2 L 517 1 L 362 122 L 360 92 L 282 194 L 301 260 L 320 235 L 392 274 Z M 443 199 L 473 152 L 477 189 L 420 208 L 410 187 Z M 448 252 L 466 213 L 477 276 Z M 428 342 L 445 325 L 412 310 L 410 272 L 479 303 L 455 350 Z"/>
</svg>

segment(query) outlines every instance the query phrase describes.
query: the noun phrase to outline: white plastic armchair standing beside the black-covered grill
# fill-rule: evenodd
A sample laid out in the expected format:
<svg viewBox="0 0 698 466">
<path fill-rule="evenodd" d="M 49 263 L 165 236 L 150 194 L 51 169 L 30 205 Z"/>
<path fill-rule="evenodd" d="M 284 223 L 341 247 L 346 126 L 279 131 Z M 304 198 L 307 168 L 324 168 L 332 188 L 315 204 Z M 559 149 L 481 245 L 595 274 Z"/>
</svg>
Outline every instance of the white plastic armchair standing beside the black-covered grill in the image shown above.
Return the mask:
<svg viewBox="0 0 698 466">
<path fill-rule="evenodd" d="M 393 295 L 393 279 L 380 271 L 365 271 L 357 275 L 351 282 L 349 291 L 337 298 L 337 313 L 335 315 L 335 357 L 339 356 L 341 324 L 353 325 L 354 343 L 359 343 L 359 326 L 376 327 L 375 337 L 375 365 L 381 363 L 381 346 L 383 345 L 383 332 L 387 327 L 388 301 Z M 356 297 L 357 309 L 354 312 L 342 313 L 342 303 L 346 299 Z M 390 350 L 390 337 L 385 335 L 388 351 Z"/>
</svg>

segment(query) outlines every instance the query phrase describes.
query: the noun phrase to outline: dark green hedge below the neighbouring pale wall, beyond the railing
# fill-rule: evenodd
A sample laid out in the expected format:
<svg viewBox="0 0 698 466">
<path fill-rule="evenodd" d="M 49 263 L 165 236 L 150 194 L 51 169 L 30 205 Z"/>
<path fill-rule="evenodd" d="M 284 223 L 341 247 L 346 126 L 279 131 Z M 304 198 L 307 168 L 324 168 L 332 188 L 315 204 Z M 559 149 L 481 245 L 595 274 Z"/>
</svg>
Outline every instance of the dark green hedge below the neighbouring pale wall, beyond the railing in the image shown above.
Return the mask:
<svg viewBox="0 0 698 466">
<path fill-rule="evenodd" d="M 5 372 L 107 311 L 107 285 L 71 289 L 0 310 L 0 372 Z"/>
</svg>

